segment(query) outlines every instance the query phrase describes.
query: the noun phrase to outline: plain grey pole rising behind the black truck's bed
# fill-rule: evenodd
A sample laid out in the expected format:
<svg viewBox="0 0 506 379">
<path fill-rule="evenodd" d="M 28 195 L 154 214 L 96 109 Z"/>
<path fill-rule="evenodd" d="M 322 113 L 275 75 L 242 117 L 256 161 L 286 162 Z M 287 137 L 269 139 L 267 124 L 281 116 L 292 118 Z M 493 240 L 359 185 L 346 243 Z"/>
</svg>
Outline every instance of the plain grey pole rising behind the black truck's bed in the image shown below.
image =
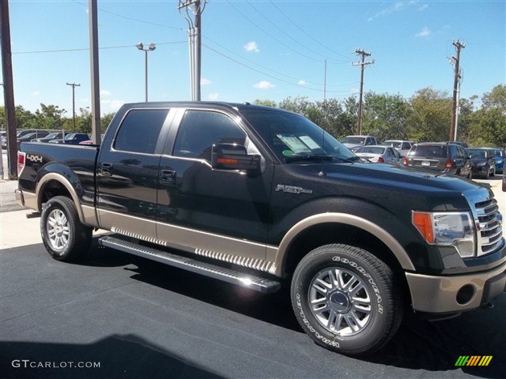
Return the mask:
<svg viewBox="0 0 506 379">
<path fill-rule="evenodd" d="M 92 134 L 93 143 L 100 145 L 100 75 L 98 59 L 98 7 L 97 0 L 88 0 L 90 14 L 90 72 L 92 82 Z"/>
</svg>

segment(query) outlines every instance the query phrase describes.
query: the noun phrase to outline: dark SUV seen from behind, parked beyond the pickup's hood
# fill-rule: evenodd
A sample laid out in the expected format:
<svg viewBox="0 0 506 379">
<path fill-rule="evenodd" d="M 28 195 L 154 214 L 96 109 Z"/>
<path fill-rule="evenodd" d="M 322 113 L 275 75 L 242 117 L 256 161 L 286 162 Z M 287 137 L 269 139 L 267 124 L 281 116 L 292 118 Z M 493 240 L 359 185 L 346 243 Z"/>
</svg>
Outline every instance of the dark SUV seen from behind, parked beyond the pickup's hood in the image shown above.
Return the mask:
<svg viewBox="0 0 506 379">
<path fill-rule="evenodd" d="M 407 167 L 473 177 L 473 162 L 460 145 L 444 142 L 415 144 L 402 163 Z"/>
</svg>

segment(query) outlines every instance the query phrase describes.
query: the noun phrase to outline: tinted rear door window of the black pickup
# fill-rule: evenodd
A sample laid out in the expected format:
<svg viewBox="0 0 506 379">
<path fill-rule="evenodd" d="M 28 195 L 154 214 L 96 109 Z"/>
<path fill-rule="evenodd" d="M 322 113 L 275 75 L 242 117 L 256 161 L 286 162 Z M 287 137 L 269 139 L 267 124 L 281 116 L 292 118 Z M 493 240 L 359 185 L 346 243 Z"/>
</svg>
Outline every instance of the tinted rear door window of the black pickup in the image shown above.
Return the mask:
<svg viewBox="0 0 506 379">
<path fill-rule="evenodd" d="M 114 149 L 154 154 L 167 109 L 134 109 L 119 126 Z"/>
</svg>

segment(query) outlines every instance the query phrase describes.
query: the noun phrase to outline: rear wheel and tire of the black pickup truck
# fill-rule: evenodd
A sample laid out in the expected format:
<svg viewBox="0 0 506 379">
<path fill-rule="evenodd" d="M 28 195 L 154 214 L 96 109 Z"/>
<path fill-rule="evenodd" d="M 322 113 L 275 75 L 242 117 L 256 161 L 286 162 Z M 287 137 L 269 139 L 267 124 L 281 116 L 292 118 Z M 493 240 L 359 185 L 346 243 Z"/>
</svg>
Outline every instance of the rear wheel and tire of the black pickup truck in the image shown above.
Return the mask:
<svg viewBox="0 0 506 379">
<path fill-rule="evenodd" d="M 92 242 L 92 228 L 80 223 L 74 203 L 64 196 L 56 196 L 44 206 L 40 234 L 46 250 L 58 261 L 79 258 Z"/>
</svg>

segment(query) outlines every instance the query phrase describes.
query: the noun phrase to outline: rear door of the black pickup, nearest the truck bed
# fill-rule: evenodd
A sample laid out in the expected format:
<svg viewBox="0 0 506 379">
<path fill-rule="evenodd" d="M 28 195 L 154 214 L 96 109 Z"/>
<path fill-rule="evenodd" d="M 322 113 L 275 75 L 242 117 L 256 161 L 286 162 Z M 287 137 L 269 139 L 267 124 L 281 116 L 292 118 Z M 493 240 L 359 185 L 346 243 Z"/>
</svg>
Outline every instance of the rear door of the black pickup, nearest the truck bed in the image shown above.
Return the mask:
<svg viewBox="0 0 506 379">
<path fill-rule="evenodd" d="M 141 239 L 156 237 L 158 165 L 169 115 L 168 109 L 130 109 L 108 146 L 102 144 L 97 163 L 102 227 Z"/>
</svg>

